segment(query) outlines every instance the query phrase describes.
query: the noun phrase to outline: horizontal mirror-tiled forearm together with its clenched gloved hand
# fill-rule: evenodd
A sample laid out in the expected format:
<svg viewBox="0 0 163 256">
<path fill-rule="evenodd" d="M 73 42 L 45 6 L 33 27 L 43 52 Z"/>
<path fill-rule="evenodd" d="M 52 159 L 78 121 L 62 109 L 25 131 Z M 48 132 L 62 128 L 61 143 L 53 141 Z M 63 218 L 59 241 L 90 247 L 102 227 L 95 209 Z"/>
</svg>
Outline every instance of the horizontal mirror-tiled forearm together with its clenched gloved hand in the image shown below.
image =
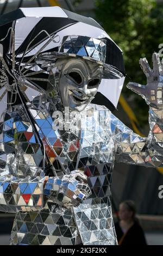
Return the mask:
<svg viewBox="0 0 163 256">
<path fill-rule="evenodd" d="M 0 210 L 37 211 L 43 208 L 47 200 L 66 208 L 77 206 L 91 194 L 89 186 L 76 180 L 78 174 L 74 172 L 71 175 L 64 175 L 62 179 L 47 176 L 44 178 L 30 176 L 25 179 L 17 179 L 12 175 L 2 176 Z"/>
</svg>

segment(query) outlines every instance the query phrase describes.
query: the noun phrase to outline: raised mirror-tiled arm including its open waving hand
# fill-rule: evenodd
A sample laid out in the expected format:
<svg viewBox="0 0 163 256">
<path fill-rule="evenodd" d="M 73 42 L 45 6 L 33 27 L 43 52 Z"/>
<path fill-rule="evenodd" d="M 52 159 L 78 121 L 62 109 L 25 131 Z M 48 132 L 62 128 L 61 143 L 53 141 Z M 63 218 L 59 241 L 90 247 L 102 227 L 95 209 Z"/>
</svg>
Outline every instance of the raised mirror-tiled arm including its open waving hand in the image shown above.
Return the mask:
<svg viewBox="0 0 163 256">
<path fill-rule="evenodd" d="M 153 54 L 153 70 L 146 58 L 140 65 L 147 76 L 147 85 L 129 83 L 128 88 L 140 94 L 149 105 L 149 135 L 140 137 L 112 115 L 112 131 L 116 144 L 116 161 L 146 167 L 163 166 L 163 66 L 159 55 Z"/>
</svg>

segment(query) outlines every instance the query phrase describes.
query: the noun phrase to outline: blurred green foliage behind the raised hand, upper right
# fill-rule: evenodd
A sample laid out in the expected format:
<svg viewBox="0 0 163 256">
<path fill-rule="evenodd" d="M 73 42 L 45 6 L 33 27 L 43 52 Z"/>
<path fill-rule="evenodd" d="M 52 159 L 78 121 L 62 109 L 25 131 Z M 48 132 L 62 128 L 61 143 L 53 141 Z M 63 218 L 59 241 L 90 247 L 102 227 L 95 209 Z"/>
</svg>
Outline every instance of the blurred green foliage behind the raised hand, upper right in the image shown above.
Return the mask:
<svg viewBox="0 0 163 256">
<path fill-rule="evenodd" d="M 146 57 L 152 67 L 152 53 L 163 43 L 163 7 L 155 0 L 96 0 L 96 20 L 124 53 L 128 81 L 146 84 L 139 59 Z M 144 125 L 148 120 L 148 106 L 139 95 L 124 86 L 123 95 Z M 133 100 L 134 98 L 134 100 Z"/>
</svg>

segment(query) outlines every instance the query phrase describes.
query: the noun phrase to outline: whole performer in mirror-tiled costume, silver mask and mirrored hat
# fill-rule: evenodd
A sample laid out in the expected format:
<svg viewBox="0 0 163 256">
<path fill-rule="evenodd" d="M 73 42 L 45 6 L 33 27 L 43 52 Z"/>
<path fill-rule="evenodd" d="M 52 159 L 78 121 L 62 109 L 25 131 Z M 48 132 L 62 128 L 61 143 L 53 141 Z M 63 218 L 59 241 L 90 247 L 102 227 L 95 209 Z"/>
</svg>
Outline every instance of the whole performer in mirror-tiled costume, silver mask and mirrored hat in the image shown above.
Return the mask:
<svg viewBox="0 0 163 256">
<path fill-rule="evenodd" d="M 77 54 L 71 42 L 79 40 Z M 103 39 L 67 35 L 57 52 L 38 54 L 35 63 L 48 75 L 46 91 L 15 76 L 21 99 L 28 94 L 32 100 L 11 104 L 1 119 L 0 210 L 16 213 L 11 245 L 117 245 L 110 199 L 114 163 L 162 166 L 159 55 L 153 53 L 153 69 L 140 59 L 146 86 L 128 84 L 149 105 L 150 132 L 143 138 L 108 108 L 91 103 L 104 74 L 123 77 L 105 63 L 105 46 Z M 1 77 L 3 83 L 3 69 Z"/>
</svg>

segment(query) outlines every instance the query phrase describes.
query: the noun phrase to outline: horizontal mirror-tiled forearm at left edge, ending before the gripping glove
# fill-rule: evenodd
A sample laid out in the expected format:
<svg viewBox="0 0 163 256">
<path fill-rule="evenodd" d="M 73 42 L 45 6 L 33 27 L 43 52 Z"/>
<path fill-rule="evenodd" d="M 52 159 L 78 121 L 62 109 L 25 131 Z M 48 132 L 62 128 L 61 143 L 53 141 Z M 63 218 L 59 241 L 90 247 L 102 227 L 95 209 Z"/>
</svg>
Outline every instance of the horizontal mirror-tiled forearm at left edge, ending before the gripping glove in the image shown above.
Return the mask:
<svg viewBox="0 0 163 256">
<path fill-rule="evenodd" d="M 12 175 L 0 178 L 0 210 L 4 212 L 36 211 L 43 206 L 43 181 L 30 176 L 17 179 Z"/>
</svg>

